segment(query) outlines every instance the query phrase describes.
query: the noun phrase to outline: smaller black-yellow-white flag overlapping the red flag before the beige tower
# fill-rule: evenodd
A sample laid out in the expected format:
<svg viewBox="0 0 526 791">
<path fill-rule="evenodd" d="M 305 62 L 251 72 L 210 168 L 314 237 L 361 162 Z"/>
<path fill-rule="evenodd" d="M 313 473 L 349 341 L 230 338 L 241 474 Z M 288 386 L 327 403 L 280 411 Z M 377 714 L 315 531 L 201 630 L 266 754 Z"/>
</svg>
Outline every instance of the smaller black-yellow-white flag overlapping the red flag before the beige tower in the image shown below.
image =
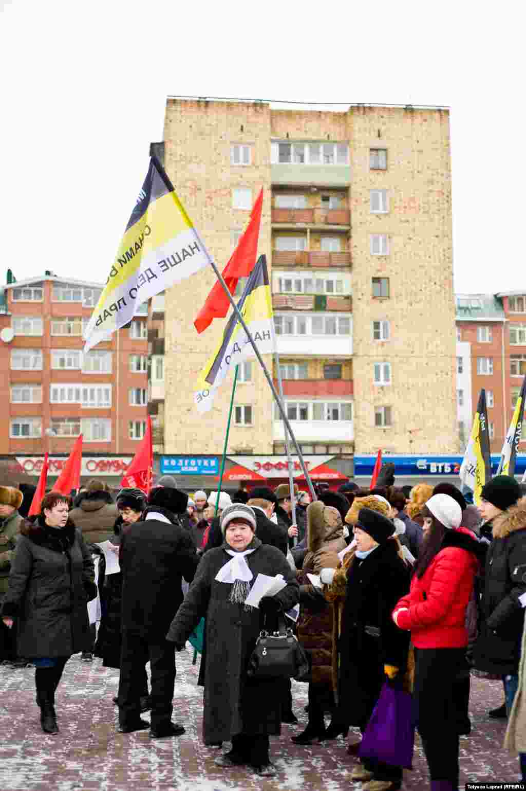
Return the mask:
<svg viewBox="0 0 526 791">
<path fill-rule="evenodd" d="M 274 353 L 276 339 L 271 286 L 268 279 L 267 259 L 264 255 L 260 255 L 256 261 L 237 307 L 260 354 Z M 215 392 L 225 380 L 229 370 L 252 357 L 255 357 L 252 345 L 236 314 L 233 313 L 226 323 L 221 343 L 199 375 L 194 393 L 195 405 L 199 412 L 207 412 L 211 409 Z"/>
</svg>

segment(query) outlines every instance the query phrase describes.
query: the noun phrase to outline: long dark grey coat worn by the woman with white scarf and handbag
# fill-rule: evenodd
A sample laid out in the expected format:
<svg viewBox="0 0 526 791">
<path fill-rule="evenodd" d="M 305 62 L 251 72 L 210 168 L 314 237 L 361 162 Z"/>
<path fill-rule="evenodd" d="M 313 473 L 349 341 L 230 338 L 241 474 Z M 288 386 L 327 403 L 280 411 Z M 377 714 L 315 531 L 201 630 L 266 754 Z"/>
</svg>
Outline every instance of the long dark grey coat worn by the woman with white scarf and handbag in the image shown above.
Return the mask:
<svg viewBox="0 0 526 791">
<path fill-rule="evenodd" d="M 286 588 L 275 598 L 287 611 L 297 604 L 299 589 L 285 555 L 252 539 L 246 556 L 252 583 L 259 573 L 274 577 L 282 574 Z M 229 741 L 237 733 L 278 734 L 281 725 L 282 679 L 263 681 L 247 676 L 248 661 L 263 628 L 258 609 L 229 601 L 232 585 L 218 582 L 218 571 L 232 556 L 230 547 L 211 549 L 203 555 L 195 580 L 187 592 L 168 631 L 167 639 L 184 645 L 202 617 L 206 617 L 206 655 L 204 672 L 205 742 Z"/>
</svg>

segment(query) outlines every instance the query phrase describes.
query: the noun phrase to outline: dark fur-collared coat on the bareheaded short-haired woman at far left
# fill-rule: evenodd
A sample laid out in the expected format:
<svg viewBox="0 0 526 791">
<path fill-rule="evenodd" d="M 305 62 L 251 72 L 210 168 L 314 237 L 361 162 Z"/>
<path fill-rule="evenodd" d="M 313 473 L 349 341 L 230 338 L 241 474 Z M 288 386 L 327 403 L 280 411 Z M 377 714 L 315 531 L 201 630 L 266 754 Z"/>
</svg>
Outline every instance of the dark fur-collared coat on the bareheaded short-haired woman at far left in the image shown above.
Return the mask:
<svg viewBox="0 0 526 791">
<path fill-rule="evenodd" d="M 86 604 L 96 596 L 93 560 L 68 520 L 23 521 L 2 616 L 15 619 L 21 657 L 70 657 L 89 648 Z"/>
</svg>

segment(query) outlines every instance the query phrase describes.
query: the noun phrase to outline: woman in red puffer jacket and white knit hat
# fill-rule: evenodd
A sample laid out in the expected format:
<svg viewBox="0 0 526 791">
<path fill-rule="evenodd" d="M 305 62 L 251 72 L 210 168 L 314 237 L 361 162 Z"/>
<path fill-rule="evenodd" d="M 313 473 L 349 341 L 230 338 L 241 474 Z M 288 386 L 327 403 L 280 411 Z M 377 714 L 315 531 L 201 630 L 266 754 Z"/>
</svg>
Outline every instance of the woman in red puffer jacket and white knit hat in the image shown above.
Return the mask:
<svg viewBox="0 0 526 791">
<path fill-rule="evenodd" d="M 462 510 L 448 494 L 435 494 L 422 508 L 426 537 L 411 590 L 392 618 L 411 631 L 414 702 L 418 731 L 430 767 L 432 791 L 456 791 L 459 732 L 455 687 L 469 672 L 466 609 L 484 547 L 466 528 Z"/>
</svg>

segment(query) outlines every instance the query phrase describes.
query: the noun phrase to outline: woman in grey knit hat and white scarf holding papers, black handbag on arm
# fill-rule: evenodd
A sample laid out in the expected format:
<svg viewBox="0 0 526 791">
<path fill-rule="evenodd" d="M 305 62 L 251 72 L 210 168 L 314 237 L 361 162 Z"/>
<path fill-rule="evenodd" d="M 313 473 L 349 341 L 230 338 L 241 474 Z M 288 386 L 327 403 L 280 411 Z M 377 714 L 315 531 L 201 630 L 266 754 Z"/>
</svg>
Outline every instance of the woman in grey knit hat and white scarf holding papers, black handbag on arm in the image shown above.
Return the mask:
<svg viewBox="0 0 526 791">
<path fill-rule="evenodd" d="M 206 618 L 203 740 L 232 741 L 218 766 L 248 764 L 262 776 L 276 774 L 269 758 L 269 735 L 279 734 L 282 679 L 247 676 L 248 662 L 263 626 L 272 630 L 278 612 L 299 599 L 294 573 L 285 556 L 255 536 L 252 508 L 234 503 L 221 514 L 224 542 L 203 555 L 195 579 L 172 621 L 167 639 L 184 648 L 199 620 Z M 263 597 L 259 607 L 245 605 L 259 574 L 280 574 L 285 587 Z M 261 578 L 260 578 L 261 580 Z M 259 582 L 257 587 L 259 587 Z"/>
</svg>

